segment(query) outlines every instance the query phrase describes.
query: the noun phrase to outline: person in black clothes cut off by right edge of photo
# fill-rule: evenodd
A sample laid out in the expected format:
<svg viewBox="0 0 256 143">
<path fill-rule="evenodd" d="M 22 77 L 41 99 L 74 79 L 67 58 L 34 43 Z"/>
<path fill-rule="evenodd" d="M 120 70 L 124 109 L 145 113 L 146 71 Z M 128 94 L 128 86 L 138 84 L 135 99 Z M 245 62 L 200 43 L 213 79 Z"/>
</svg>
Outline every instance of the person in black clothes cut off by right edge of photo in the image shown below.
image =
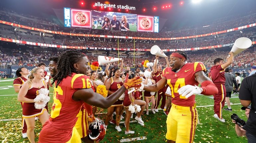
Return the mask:
<svg viewBox="0 0 256 143">
<path fill-rule="evenodd" d="M 256 74 L 252 74 L 243 79 L 239 91 L 239 99 L 242 106 L 247 107 L 251 104 L 250 116 L 243 126 L 246 130 L 248 143 L 256 143 Z"/>
</svg>

